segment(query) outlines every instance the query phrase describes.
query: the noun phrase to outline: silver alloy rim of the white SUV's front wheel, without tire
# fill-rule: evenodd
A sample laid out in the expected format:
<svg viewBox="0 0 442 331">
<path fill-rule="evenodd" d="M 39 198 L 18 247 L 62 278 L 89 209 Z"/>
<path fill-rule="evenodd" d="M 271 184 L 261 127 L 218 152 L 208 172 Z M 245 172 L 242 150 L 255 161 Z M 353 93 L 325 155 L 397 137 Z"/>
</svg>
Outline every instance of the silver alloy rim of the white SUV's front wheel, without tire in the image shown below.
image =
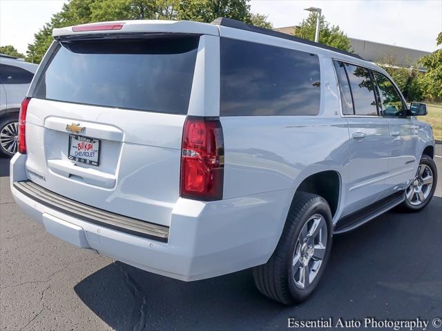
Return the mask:
<svg viewBox="0 0 442 331">
<path fill-rule="evenodd" d="M 420 164 L 405 196 L 412 205 L 421 205 L 430 196 L 433 187 L 433 172 L 426 164 Z"/>
</svg>

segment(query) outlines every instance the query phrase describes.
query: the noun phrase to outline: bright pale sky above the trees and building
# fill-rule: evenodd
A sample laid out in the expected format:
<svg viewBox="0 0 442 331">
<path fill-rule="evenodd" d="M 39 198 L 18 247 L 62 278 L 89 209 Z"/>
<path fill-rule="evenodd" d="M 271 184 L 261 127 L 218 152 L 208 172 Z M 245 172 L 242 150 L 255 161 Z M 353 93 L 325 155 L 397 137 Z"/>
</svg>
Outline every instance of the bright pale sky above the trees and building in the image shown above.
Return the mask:
<svg viewBox="0 0 442 331">
<path fill-rule="evenodd" d="M 0 46 L 26 52 L 34 34 L 66 0 L 0 0 Z M 268 15 L 274 28 L 294 26 L 308 7 L 348 37 L 432 52 L 442 31 L 442 0 L 251 0 L 251 11 Z"/>
</svg>

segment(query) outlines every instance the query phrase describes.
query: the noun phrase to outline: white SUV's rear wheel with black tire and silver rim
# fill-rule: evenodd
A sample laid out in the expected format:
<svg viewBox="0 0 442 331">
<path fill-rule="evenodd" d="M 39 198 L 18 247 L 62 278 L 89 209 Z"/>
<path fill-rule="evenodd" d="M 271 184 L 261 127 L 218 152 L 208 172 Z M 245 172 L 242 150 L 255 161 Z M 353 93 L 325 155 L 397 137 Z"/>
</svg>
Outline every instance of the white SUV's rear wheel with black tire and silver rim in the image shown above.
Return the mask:
<svg viewBox="0 0 442 331">
<path fill-rule="evenodd" d="M 325 199 L 298 192 L 275 252 L 253 268 L 258 290 L 286 305 L 307 299 L 324 272 L 332 248 L 332 212 Z"/>
</svg>

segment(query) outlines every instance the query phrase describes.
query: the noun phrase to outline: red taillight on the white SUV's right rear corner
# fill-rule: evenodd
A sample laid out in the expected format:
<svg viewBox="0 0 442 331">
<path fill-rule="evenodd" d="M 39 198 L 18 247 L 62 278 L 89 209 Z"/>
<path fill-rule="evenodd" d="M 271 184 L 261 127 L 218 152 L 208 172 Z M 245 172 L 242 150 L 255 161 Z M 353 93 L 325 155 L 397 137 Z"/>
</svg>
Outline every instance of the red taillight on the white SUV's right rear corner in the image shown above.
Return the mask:
<svg viewBox="0 0 442 331">
<path fill-rule="evenodd" d="M 220 119 L 187 117 L 181 157 L 181 197 L 221 200 L 224 141 Z"/>
</svg>

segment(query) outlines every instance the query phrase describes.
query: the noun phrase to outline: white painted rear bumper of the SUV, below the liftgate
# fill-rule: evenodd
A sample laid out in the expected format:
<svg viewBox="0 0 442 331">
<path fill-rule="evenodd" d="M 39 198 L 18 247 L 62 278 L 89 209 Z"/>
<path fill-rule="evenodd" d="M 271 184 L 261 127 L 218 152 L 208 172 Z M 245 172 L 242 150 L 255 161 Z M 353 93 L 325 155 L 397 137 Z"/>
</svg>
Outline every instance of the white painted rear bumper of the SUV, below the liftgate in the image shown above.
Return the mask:
<svg viewBox="0 0 442 331">
<path fill-rule="evenodd" d="M 26 155 L 11 161 L 11 190 L 19 207 L 56 237 L 167 277 L 193 281 L 267 262 L 278 243 L 291 190 L 222 201 L 178 199 L 167 242 L 127 233 L 51 208 L 17 190 Z M 16 183 L 16 184 L 15 184 Z"/>
</svg>

